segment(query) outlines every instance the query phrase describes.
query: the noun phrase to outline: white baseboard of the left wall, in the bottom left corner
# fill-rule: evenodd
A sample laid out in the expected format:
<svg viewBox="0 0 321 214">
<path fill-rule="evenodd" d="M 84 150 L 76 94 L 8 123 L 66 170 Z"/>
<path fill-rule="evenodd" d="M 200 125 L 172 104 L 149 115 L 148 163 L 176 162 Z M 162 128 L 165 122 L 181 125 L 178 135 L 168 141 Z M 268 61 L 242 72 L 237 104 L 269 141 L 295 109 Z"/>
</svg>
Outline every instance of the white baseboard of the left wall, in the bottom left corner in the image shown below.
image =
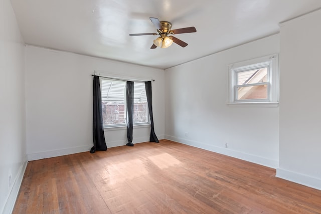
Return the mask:
<svg viewBox="0 0 321 214">
<path fill-rule="evenodd" d="M 14 209 L 14 206 L 15 206 L 15 203 L 16 203 L 16 200 L 18 197 L 19 189 L 21 186 L 21 182 L 22 182 L 22 179 L 24 178 L 24 174 L 26 171 L 27 163 L 28 163 L 28 161 L 23 162 L 23 164 L 21 165 L 21 167 L 19 169 L 18 175 L 17 175 L 17 177 L 14 181 L 14 184 L 11 188 L 11 191 L 9 193 L 7 202 L 5 203 L 5 207 L 3 210 L 4 214 L 5 213 L 12 213 L 12 211 Z"/>
</svg>

